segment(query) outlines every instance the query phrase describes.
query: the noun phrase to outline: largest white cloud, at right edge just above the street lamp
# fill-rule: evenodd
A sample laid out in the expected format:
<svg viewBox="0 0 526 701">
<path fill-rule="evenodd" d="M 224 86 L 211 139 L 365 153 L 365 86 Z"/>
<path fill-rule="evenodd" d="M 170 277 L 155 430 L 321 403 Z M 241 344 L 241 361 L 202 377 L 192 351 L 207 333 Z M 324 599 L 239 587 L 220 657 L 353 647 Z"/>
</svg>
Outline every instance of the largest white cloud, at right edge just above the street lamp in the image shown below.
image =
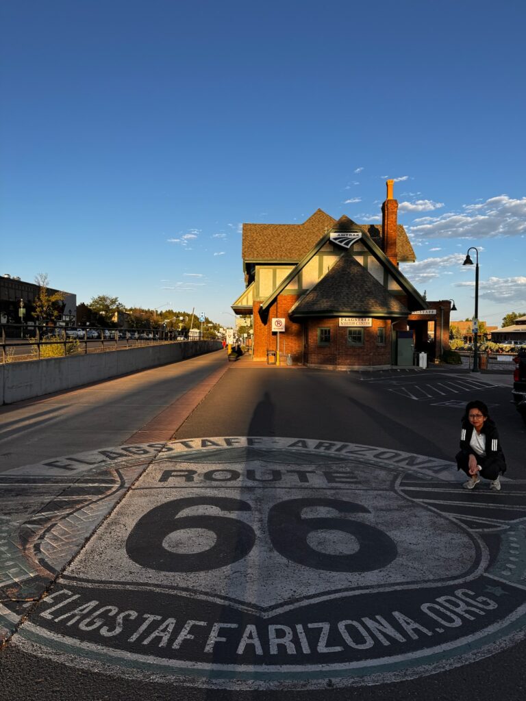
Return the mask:
<svg viewBox="0 0 526 701">
<path fill-rule="evenodd" d="M 464 212 L 415 219 L 408 227 L 412 236 L 423 238 L 497 238 L 526 233 L 526 197 L 492 197 L 482 204 L 464 205 Z"/>
</svg>

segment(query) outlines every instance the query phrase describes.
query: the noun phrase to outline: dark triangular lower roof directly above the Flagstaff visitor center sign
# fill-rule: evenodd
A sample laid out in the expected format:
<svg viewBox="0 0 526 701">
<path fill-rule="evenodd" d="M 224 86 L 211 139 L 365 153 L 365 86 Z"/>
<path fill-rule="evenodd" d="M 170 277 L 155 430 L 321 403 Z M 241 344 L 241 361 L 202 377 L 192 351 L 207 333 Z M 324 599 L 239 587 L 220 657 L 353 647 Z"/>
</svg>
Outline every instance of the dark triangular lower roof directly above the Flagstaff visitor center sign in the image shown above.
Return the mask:
<svg viewBox="0 0 526 701">
<path fill-rule="evenodd" d="M 290 309 L 302 316 L 407 316 L 409 310 L 346 251 Z"/>
</svg>

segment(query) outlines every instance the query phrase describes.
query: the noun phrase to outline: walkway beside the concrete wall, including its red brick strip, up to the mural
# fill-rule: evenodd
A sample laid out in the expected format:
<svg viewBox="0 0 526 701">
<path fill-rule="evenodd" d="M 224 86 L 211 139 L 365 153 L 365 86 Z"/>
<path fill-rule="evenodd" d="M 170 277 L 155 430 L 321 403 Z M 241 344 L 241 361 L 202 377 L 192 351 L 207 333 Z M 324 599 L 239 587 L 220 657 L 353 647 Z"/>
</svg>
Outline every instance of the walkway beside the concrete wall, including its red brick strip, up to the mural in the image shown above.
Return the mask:
<svg viewBox="0 0 526 701">
<path fill-rule="evenodd" d="M 222 351 L 0 407 L 0 472 L 108 446 L 169 440 L 229 364 Z"/>
</svg>

